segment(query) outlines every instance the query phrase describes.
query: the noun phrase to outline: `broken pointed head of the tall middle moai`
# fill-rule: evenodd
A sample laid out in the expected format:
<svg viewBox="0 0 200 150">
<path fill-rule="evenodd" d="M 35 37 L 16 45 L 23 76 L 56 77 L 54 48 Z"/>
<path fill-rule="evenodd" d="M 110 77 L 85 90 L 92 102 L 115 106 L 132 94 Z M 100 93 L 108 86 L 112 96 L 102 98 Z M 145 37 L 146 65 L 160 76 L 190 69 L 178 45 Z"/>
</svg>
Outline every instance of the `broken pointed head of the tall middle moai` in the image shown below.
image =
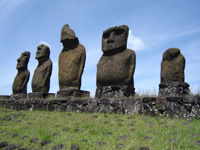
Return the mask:
<svg viewBox="0 0 200 150">
<path fill-rule="evenodd" d="M 77 39 L 75 32 L 69 27 L 68 24 L 65 24 L 61 31 L 60 42 L 65 40 L 74 40 Z"/>
</svg>

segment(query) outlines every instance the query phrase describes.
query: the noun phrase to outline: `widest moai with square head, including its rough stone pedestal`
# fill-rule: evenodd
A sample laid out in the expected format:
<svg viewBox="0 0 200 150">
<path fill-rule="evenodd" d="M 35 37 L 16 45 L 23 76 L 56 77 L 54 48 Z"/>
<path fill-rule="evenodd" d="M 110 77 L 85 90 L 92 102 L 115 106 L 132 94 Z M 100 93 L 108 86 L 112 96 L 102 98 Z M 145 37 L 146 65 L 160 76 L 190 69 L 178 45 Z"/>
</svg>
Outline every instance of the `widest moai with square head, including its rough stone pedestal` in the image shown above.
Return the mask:
<svg viewBox="0 0 200 150">
<path fill-rule="evenodd" d="M 96 97 L 129 97 L 135 94 L 136 55 L 127 49 L 129 28 L 126 25 L 103 32 L 102 51 L 97 64 Z"/>
</svg>

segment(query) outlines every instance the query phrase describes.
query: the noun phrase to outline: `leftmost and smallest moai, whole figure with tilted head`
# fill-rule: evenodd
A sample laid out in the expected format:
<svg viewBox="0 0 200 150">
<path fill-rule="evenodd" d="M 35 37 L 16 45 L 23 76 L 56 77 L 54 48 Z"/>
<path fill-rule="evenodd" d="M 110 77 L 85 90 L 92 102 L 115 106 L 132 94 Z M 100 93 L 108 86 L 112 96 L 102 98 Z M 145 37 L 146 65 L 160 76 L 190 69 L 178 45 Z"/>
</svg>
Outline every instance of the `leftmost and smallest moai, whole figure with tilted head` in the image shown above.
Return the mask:
<svg viewBox="0 0 200 150">
<path fill-rule="evenodd" d="M 16 69 L 18 70 L 18 73 L 12 85 L 13 94 L 27 93 L 27 83 L 29 81 L 29 76 L 30 76 L 30 72 L 27 69 L 29 58 L 30 58 L 30 52 L 25 51 L 17 59 Z"/>
</svg>

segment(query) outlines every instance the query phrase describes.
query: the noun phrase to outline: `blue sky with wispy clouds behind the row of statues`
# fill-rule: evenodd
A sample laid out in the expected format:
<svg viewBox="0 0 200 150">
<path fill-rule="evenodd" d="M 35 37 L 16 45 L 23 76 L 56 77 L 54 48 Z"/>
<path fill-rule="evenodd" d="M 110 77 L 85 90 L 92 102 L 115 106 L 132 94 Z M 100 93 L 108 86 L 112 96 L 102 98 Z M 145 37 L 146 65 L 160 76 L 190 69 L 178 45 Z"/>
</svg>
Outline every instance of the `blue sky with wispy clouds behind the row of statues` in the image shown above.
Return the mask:
<svg viewBox="0 0 200 150">
<path fill-rule="evenodd" d="M 50 47 L 53 61 L 50 92 L 58 86 L 60 34 L 66 23 L 86 48 L 82 90 L 96 89 L 96 65 L 102 55 L 101 37 L 107 28 L 126 24 L 128 48 L 136 52 L 136 92 L 158 91 L 163 52 L 180 48 L 186 58 L 185 81 L 191 90 L 200 87 L 199 0 L 0 0 L 0 94 L 12 94 L 17 58 L 31 52 L 31 80 L 38 61 L 37 46 Z"/>
</svg>

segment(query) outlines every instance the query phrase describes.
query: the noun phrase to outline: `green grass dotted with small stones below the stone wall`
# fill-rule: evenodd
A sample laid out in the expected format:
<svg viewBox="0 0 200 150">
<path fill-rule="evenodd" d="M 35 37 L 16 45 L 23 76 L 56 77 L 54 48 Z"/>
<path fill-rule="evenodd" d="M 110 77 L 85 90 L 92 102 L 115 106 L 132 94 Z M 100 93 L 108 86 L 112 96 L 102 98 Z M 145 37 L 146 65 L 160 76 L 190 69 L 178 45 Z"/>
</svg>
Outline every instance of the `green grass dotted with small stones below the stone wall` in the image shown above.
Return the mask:
<svg viewBox="0 0 200 150">
<path fill-rule="evenodd" d="M 30 150 L 51 150 L 58 144 L 67 150 L 71 145 L 81 150 L 194 150 L 200 149 L 200 120 L 0 108 L 0 135 L 0 143 Z M 51 143 L 42 146 L 44 140 Z"/>
</svg>

